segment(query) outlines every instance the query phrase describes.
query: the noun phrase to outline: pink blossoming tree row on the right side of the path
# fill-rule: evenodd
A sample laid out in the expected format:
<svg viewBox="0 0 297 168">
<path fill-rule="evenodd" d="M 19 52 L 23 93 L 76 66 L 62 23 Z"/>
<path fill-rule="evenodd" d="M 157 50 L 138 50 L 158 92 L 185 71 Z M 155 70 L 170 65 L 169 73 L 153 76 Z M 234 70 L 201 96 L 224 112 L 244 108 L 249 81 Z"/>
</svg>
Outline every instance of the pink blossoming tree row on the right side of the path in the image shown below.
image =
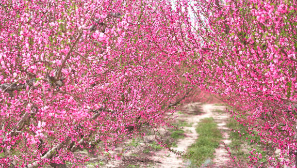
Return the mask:
<svg viewBox="0 0 297 168">
<path fill-rule="evenodd" d="M 269 165 L 297 164 L 297 2 L 181 1 L 177 10 L 185 16 L 185 9 L 194 18 L 184 24 L 193 51 L 185 76 L 224 97 L 231 116 L 260 138 L 251 142 L 280 150 Z M 248 165 L 263 166 L 262 157 L 250 151 Z"/>
</svg>

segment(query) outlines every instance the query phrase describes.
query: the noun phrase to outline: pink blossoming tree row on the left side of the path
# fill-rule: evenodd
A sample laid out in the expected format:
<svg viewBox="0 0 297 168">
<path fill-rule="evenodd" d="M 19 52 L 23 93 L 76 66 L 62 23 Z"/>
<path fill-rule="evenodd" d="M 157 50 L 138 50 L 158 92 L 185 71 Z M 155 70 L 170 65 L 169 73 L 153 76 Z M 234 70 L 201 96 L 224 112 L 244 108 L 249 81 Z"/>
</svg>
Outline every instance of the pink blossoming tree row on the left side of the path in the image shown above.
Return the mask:
<svg viewBox="0 0 297 168">
<path fill-rule="evenodd" d="M 0 1 L 0 165 L 83 163 L 167 124 L 193 87 L 167 0 Z M 180 48 L 180 49 L 179 49 Z M 160 140 L 162 143 L 162 139 Z"/>
</svg>

